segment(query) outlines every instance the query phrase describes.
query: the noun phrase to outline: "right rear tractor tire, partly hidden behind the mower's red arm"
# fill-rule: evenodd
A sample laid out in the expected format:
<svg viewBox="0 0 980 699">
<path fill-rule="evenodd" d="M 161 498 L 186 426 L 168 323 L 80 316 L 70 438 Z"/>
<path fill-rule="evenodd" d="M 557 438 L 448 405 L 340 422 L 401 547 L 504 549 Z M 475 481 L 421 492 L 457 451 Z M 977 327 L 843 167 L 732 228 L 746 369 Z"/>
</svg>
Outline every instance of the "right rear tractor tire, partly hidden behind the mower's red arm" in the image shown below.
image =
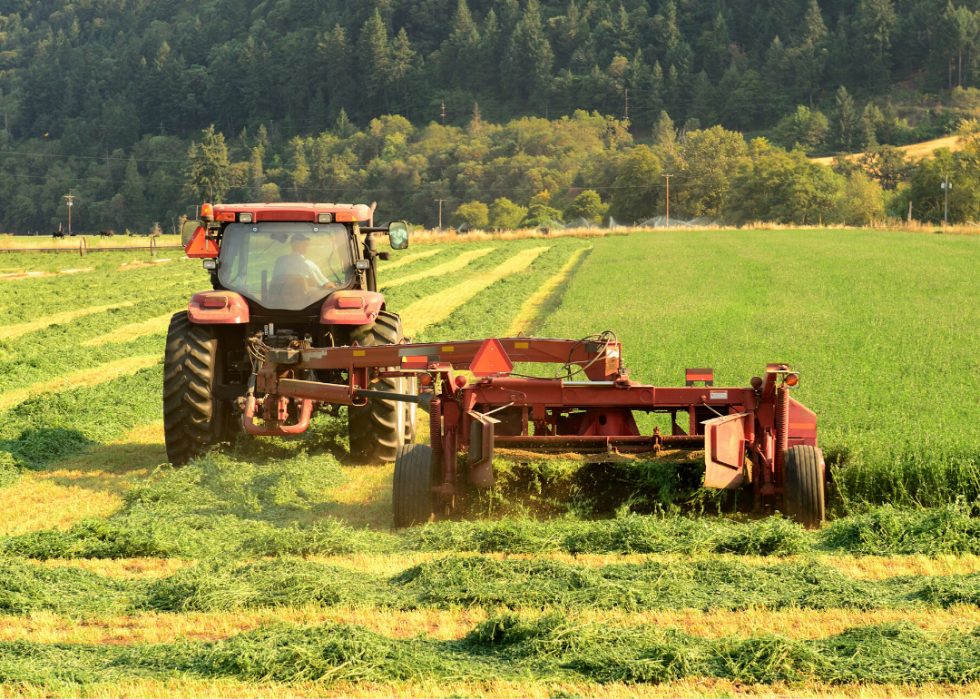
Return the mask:
<svg viewBox="0 0 980 699">
<path fill-rule="evenodd" d="M 402 321 L 395 313 L 381 311 L 370 325 L 351 333 L 351 342 L 361 347 L 397 345 L 402 341 Z M 405 393 L 414 384 L 408 379 L 378 378 L 372 391 Z M 412 404 L 393 400 L 369 400 L 367 405 L 347 409 L 347 435 L 350 455 L 355 463 L 394 461 L 398 447 L 415 439 L 415 411 Z"/>
</svg>

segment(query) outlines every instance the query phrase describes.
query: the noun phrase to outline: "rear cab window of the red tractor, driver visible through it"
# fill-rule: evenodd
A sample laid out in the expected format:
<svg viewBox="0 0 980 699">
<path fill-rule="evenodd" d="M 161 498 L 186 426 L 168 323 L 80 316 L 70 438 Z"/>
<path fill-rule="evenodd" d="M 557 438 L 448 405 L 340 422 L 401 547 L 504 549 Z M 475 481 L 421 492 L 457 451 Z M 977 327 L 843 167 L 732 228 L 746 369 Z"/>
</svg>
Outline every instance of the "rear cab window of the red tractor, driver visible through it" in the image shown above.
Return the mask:
<svg viewBox="0 0 980 699">
<path fill-rule="evenodd" d="M 354 274 L 342 223 L 266 221 L 225 228 L 218 280 L 264 308 L 299 311 L 348 285 Z"/>
</svg>

